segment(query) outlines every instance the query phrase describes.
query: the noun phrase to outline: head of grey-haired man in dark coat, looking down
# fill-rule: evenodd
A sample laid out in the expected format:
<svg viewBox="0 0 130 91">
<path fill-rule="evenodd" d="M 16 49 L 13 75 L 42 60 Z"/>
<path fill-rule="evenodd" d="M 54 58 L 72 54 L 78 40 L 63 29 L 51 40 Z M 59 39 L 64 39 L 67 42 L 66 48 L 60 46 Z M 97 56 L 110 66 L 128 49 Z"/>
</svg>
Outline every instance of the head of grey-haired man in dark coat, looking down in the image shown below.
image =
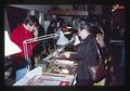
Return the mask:
<svg viewBox="0 0 130 91">
<path fill-rule="evenodd" d="M 86 39 L 90 35 L 89 25 L 86 22 L 81 22 L 78 25 L 78 36 L 81 39 Z"/>
</svg>

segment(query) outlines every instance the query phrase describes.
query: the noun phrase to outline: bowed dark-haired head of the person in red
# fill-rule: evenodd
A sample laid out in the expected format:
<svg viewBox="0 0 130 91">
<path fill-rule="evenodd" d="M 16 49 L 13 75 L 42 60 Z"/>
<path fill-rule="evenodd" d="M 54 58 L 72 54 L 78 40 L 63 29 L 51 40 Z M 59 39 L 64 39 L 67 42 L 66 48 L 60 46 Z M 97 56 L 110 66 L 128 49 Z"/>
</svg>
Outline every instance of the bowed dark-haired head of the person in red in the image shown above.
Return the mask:
<svg viewBox="0 0 130 91">
<path fill-rule="evenodd" d="M 32 32 L 32 30 L 38 27 L 39 22 L 38 22 L 38 18 L 36 16 L 29 15 L 25 18 L 24 25 L 25 25 L 27 30 Z"/>
</svg>

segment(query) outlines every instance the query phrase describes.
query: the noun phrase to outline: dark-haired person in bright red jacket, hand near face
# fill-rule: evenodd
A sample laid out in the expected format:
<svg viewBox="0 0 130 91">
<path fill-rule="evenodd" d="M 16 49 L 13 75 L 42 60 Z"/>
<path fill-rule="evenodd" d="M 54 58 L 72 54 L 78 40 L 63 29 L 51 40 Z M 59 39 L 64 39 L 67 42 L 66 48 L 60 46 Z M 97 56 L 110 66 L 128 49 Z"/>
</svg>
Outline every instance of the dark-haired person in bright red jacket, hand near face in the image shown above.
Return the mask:
<svg viewBox="0 0 130 91">
<path fill-rule="evenodd" d="M 27 61 L 25 60 L 24 55 L 23 41 L 38 36 L 38 25 L 39 22 L 37 17 L 34 15 L 29 15 L 25 18 L 24 23 L 18 25 L 11 34 L 11 40 L 22 49 L 22 52 L 20 53 L 20 56 L 15 63 L 16 81 L 20 80 L 27 72 Z M 32 50 L 37 44 L 37 42 L 27 44 L 29 57 L 32 56 Z"/>
</svg>

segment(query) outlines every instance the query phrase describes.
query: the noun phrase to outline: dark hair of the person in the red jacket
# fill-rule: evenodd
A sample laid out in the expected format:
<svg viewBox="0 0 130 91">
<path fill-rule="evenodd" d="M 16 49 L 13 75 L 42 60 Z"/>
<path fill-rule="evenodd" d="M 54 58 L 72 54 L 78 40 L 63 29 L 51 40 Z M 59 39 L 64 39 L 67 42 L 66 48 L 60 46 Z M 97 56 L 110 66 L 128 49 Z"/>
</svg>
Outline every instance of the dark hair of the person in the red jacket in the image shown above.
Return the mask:
<svg viewBox="0 0 130 91">
<path fill-rule="evenodd" d="M 36 23 L 36 26 L 39 25 L 38 18 L 35 15 L 29 15 L 25 18 L 24 23 L 27 25 L 29 24 L 30 26 Z"/>
</svg>

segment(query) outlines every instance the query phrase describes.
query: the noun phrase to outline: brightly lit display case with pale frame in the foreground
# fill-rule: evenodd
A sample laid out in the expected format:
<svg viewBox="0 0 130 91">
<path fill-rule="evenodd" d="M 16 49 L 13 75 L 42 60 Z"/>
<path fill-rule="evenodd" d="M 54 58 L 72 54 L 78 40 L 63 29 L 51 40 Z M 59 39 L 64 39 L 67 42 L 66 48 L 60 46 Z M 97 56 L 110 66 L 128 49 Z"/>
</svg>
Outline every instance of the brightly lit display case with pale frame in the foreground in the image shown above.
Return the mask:
<svg viewBox="0 0 130 91">
<path fill-rule="evenodd" d="M 49 62 L 46 68 L 38 66 L 28 72 L 14 86 L 73 86 L 78 64 L 75 61 L 58 57 Z"/>
</svg>

